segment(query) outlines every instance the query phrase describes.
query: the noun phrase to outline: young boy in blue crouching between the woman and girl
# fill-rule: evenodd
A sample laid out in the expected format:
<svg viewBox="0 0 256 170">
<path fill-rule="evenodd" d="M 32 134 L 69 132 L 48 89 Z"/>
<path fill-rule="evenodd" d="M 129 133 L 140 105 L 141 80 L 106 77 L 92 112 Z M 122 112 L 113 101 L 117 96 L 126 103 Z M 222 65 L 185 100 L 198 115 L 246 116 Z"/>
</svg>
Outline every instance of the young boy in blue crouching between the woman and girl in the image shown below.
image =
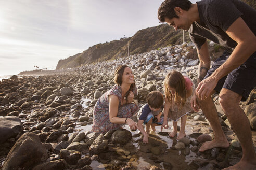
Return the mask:
<svg viewBox="0 0 256 170">
<path fill-rule="evenodd" d="M 139 113 L 138 129 L 144 135 L 143 143 L 148 143 L 150 126 L 156 131 L 155 126 L 163 124 L 163 95 L 159 91 L 151 91 L 147 96 L 147 104 L 142 106 Z M 146 132 L 143 124 L 146 125 Z"/>
</svg>

